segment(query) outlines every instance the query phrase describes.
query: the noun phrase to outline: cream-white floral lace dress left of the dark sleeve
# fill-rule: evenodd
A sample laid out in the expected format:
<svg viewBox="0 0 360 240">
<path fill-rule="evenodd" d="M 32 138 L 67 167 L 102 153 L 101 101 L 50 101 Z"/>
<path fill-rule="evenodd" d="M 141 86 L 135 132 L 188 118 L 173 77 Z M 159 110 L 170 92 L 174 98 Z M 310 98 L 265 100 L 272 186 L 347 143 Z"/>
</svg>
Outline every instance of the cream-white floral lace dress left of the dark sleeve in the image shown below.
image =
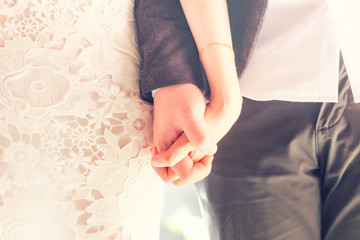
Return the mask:
<svg viewBox="0 0 360 240">
<path fill-rule="evenodd" d="M 0 0 L 0 239 L 158 239 L 133 0 Z"/>
</svg>

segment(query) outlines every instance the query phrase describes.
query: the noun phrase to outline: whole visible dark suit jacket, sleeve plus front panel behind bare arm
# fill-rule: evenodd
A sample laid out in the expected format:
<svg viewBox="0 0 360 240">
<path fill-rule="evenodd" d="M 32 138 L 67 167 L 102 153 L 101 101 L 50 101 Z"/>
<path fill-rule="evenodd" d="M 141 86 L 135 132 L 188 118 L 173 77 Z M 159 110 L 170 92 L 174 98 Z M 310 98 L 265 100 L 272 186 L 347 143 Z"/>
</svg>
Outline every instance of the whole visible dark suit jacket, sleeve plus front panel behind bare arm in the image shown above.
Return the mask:
<svg viewBox="0 0 360 240">
<path fill-rule="evenodd" d="M 244 71 L 265 13 L 267 0 L 228 0 L 238 75 Z M 135 0 L 142 97 L 181 83 L 207 90 L 198 51 L 179 0 Z"/>
</svg>

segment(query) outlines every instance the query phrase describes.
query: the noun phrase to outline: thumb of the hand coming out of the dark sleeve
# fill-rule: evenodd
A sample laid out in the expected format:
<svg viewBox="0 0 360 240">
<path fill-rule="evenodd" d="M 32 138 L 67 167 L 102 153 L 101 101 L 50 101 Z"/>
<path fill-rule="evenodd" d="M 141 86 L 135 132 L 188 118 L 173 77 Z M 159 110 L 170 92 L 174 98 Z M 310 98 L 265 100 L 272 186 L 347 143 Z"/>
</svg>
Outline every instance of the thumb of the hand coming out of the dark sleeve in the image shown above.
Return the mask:
<svg viewBox="0 0 360 240">
<path fill-rule="evenodd" d="M 189 142 L 205 155 L 214 155 L 217 146 L 213 142 L 208 125 L 203 116 L 193 117 L 184 124 L 184 133 Z"/>
</svg>

